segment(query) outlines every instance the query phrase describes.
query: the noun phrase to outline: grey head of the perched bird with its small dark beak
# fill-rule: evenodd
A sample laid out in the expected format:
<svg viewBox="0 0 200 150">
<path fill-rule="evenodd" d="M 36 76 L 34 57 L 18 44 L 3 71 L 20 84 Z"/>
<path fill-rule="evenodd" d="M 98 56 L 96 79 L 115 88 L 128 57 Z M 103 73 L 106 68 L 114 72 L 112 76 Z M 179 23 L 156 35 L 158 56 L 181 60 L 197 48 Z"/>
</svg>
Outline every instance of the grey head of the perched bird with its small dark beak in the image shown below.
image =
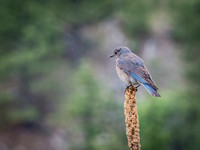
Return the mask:
<svg viewBox="0 0 200 150">
<path fill-rule="evenodd" d="M 131 53 L 131 50 L 128 47 L 119 46 L 119 47 L 115 48 L 113 54 L 109 58 L 111 58 L 111 57 L 119 58 L 122 55 L 125 55 L 127 53 Z"/>
</svg>

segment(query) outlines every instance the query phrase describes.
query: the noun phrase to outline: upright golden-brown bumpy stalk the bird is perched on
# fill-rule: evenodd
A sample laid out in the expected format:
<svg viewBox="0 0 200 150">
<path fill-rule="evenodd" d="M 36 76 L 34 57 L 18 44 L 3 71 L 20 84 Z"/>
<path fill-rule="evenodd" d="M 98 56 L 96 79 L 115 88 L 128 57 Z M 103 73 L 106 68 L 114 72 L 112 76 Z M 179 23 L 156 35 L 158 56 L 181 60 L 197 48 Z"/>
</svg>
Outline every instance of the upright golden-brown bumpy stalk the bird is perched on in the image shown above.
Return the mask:
<svg viewBox="0 0 200 150">
<path fill-rule="evenodd" d="M 124 114 L 126 135 L 131 150 L 140 150 L 139 120 L 136 105 L 136 88 L 131 86 L 125 91 Z"/>
</svg>

